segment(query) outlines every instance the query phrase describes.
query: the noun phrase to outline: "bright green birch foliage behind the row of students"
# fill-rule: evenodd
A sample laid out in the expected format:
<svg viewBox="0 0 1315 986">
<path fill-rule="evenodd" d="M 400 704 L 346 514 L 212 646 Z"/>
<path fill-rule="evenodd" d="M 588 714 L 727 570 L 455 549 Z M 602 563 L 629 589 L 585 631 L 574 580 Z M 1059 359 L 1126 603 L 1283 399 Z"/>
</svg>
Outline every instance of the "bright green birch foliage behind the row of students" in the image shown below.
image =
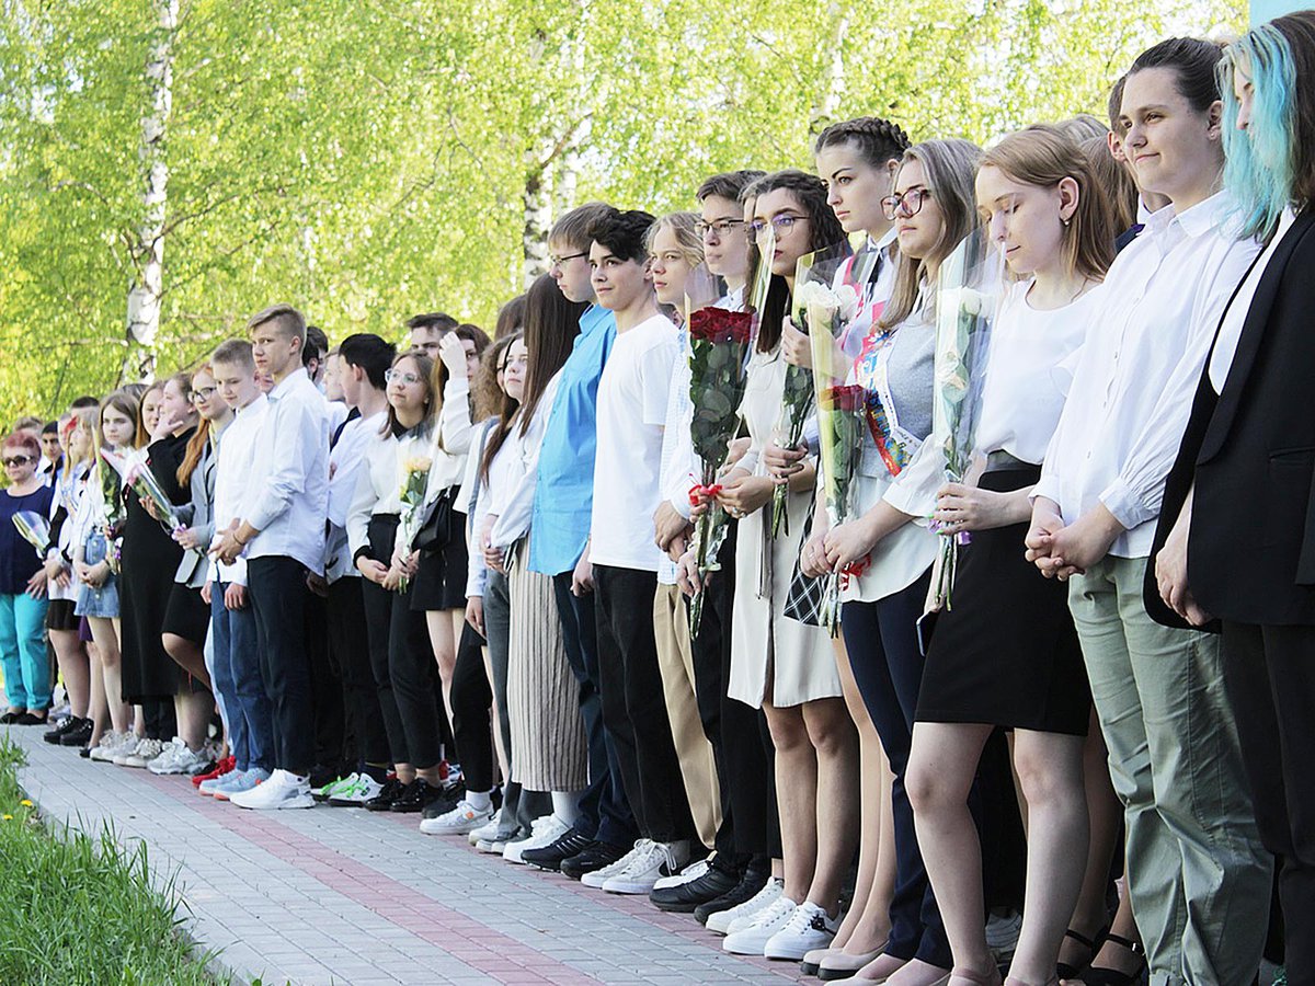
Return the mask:
<svg viewBox="0 0 1315 986">
<path fill-rule="evenodd" d="M 118 383 L 151 8 L 0 4 L 0 421 Z M 807 167 L 830 118 L 985 141 L 1101 114 L 1147 42 L 1243 16 L 1237 0 L 185 0 L 160 369 L 275 300 L 331 339 L 398 338 L 435 308 L 488 325 L 521 289 L 534 195 L 659 213 L 713 171 Z"/>
</svg>

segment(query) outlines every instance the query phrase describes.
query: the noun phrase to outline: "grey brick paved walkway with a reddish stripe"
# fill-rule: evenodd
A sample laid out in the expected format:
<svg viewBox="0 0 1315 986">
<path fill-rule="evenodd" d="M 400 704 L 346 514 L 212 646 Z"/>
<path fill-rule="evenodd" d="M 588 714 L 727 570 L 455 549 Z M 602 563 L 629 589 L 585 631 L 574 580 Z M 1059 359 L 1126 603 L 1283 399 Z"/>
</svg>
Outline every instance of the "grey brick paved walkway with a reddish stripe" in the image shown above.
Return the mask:
<svg viewBox="0 0 1315 986">
<path fill-rule="evenodd" d="M 11 735 L 20 780 L 47 818 L 124 841 L 178 873 L 188 932 L 235 981 L 264 983 L 768 983 L 789 962 L 742 960 L 688 915 L 513 866 L 417 816 L 363 809 L 258 814 L 185 778 L 93 764 Z"/>
</svg>

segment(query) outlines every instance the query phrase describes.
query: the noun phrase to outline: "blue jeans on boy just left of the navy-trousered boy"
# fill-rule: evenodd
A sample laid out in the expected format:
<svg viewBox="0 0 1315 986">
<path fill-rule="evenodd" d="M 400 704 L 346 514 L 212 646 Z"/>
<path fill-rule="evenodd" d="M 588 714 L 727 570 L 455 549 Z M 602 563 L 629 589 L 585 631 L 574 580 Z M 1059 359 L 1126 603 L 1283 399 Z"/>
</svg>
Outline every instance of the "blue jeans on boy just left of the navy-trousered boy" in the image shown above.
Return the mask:
<svg viewBox="0 0 1315 986">
<path fill-rule="evenodd" d="M 227 582 L 210 586 L 210 636 L 214 644 L 214 692 L 229 711 L 229 747 L 238 770 L 274 769 L 270 698 L 260 680 L 255 617 L 247 607 L 224 605 Z"/>
</svg>

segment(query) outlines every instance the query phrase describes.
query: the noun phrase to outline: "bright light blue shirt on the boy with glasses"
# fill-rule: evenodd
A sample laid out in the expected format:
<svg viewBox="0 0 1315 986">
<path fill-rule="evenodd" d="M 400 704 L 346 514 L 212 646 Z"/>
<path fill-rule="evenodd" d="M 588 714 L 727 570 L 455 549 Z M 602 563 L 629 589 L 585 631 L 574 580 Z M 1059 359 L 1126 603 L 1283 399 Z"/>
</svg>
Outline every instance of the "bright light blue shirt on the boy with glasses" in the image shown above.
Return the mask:
<svg viewBox="0 0 1315 986">
<path fill-rule="evenodd" d="M 539 450 L 530 521 L 530 571 L 575 568 L 589 539 L 598 379 L 617 338 L 617 319 L 597 305 L 580 316 L 580 335 L 562 367 Z"/>
</svg>

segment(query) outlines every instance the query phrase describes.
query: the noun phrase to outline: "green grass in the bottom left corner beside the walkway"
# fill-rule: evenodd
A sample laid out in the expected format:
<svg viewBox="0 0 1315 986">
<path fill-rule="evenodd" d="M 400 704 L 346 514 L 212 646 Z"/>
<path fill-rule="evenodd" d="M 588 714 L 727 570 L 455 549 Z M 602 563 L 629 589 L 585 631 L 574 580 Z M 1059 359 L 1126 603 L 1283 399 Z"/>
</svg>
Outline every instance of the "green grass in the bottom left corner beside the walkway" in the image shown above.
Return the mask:
<svg viewBox="0 0 1315 986">
<path fill-rule="evenodd" d="M 151 883 L 146 844 L 47 828 L 18 786 L 22 763 L 0 738 L 0 983 L 214 986 L 179 933 L 172 881 Z"/>
</svg>

